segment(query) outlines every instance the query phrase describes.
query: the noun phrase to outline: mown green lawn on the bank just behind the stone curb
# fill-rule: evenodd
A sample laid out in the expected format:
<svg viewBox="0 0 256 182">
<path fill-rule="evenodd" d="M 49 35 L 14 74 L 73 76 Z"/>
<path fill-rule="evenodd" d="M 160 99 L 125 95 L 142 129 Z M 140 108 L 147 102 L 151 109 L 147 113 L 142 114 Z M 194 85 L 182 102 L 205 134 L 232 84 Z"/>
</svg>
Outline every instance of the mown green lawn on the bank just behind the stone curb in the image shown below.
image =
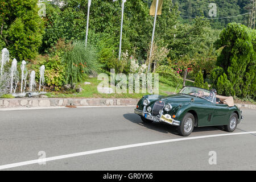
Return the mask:
<svg viewBox="0 0 256 182">
<path fill-rule="evenodd" d="M 90 82 L 90 85 L 84 85 L 84 82 Z M 87 77 L 84 82 L 76 84 L 76 86 L 81 86 L 84 89 L 81 93 L 58 93 L 51 92 L 47 93 L 48 97 L 57 97 L 57 98 L 141 98 L 142 96 L 150 93 L 113 93 L 113 94 L 102 94 L 98 93 L 97 86 L 100 84 L 101 80 L 97 80 L 97 78 L 89 78 Z M 159 95 L 167 96 L 171 93 L 176 93 L 180 91 L 182 88 L 183 80 L 180 79 L 179 86 L 174 82 L 167 80 L 166 78 L 159 78 Z M 186 85 L 193 85 L 192 82 L 187 81 Z"/>
</svg>

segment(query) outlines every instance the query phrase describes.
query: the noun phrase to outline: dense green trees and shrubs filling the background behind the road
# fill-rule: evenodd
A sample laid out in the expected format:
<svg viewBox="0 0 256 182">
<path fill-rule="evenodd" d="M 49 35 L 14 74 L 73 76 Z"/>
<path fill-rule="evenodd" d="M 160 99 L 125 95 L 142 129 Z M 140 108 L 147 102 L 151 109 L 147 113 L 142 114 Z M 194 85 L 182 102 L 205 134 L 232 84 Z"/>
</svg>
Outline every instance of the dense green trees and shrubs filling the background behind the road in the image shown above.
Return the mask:
<svg viewBox="0 0 256 182">
<path fill-rule="evenodd" d="M 40 66 L 45 65 L 47 90 L 66 92 L 64 85 L 80 85 L 89 80 L 88 75 L 109 73 L 110 69 L 115 73 L 146 73 L 149 65 L 150 73 L 159 73 L 160 89 L 165 92 L 183 84 L 193 85 L 188 78 L 201 88 L 209 89 L 209 83 L 218 94 L 255 100 L 256 35 L 242 25 L 248 16 L 207 19 L 209 3 L 216 3 L 217 17 L 225 17 L 247 13 L 249 1 L 163 1 L 149 59 L 152 0 L 129 0 L 125 3 L 120 60 L 121 1 L 92 1 L 86 48 L 88 0 L 63 2 L 60 7 L 45 1 L 46 16 L 40 18 L 37 0 L 0 1 L 0 48 L 9 49 L 11 58 L 18 59 L 18 67 L 23 59 L 28 61 L 28 70 L 36 71 L 36 80 Z M 84 97 L 102 96 L 94 93 L 96 88 L 84 89 Z"/>
</svg>

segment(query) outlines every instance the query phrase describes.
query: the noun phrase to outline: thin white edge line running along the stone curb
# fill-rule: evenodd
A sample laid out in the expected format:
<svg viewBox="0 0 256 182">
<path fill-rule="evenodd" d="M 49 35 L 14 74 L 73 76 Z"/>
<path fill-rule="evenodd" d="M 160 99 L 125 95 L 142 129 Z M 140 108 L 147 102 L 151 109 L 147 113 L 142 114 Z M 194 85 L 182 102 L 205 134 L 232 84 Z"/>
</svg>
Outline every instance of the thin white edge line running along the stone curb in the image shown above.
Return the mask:
<svg viewBox="0 0 256 182">
<path fill-rule="evenodd" d="M 90 107 L 136 107 L 136 105 L 102 105 L 102 106 L 76 106 L 77 108 L 90 108 Z M 10 110 L 36 110 L 36 109 L 73 109 L 65 106 L 39 106 L 39 107 L 6 107 L 0 108 L 0 111 L 10 111 Z M 75 108 L 76 109 L 76 108 Z"/>
</svg>

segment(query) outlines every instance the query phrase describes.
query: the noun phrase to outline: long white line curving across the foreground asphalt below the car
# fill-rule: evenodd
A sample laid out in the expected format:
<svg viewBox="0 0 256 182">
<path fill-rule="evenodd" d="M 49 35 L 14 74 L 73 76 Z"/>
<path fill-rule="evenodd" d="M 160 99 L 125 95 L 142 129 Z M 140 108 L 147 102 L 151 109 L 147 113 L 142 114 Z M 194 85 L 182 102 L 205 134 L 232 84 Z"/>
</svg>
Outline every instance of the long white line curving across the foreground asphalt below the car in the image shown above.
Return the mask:
<svg viewBox="0 0 256 182">
<path fill-rule="evenodd" d="M 125 146 L 102 148 L 99 150 L 91 150 L 91 151 L 86 151 L 86 152 L 77 152 L 77 153 L 73 153 L 73 154 L 53 156 L 50 158 L 43 159 L 43 162 L 73 158 L 73 157 L 82 156 L 82 155 L 97 154 L 97 153 L 101 153 L 101 152 L 108 152 L 108 151 L 114 151 L 114 150 L 122 150 L 122 149 L 126 149 L 126 148 L 149 146 L 152 144 L 170 143 L 170 142 L 178 142 L 178 141 L 183 141 L 183 140 L 193 140 L 193 139 L 201 139 L 201 138 L 225 137 L 225 136 L 230 136 L 230 135 L 254 134 L 254 133 L 256 133 L 256 131 L 242 132 L 242 133 L 217 134 L 217 135 L 204 135 L 204 136 L 199 136 L 199 137 L 176 138 L 176 139 L 169 139 L 169 140 L 159 140 L 159 141 L 155 141 L 155 142 L 128 144 Z M 13 168 L 13 167 L 26 166 L 29 164 L 36 164 L 39 162 L 42 162 L 42 159 L 28 160 L 28 161 L 19 162 L 19 163 L 13 163 L 13 164 L 5 164 L 5 165 L 0 166 L 0 169 L 8 169 L 8 168 Z"/>
</svg>

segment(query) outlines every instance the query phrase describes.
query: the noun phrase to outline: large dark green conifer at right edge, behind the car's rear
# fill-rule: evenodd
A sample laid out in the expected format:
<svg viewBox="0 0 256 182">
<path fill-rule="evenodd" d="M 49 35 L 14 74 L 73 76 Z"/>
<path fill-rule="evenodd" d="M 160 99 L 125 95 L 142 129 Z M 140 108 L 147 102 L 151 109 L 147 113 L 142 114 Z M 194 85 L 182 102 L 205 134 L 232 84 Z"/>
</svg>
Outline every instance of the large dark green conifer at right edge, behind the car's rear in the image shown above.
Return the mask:
<svg viewBox="0 0 256 182">
<path fill-rule="evenodd" d="M 222 30 L 216 42 L 216 48 L 223 47 L 216 63 L 222 70 L 213 70 L 212 82 L 223 94 L 255 99 L 255 35 L 256 30 L 240 23 L 229 23 Z M 223 90 L 223 85 L 230 90 Z"/>
</svg>

